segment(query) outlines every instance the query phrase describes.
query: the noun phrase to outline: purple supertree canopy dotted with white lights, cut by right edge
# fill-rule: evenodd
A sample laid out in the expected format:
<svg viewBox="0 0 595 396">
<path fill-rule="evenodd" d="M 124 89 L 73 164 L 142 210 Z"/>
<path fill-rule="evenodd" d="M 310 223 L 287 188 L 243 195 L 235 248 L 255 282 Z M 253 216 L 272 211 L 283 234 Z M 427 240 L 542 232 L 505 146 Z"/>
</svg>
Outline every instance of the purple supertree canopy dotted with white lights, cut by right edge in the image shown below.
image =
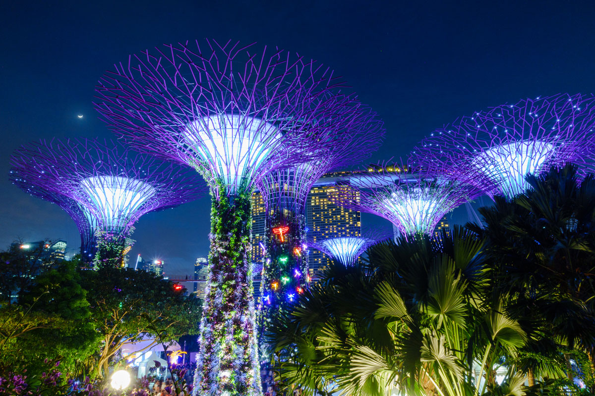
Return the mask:
<svg viewBox="0 0 595 396">
<path fill-rule="evenodd" d="M 437 129 L 414 156 L 470 164 L 497 186 L 490 195 L 511 199 L 528 187 L 528 173 L 590 157 L 594 102 L 593 95 L 558 94 L 493 107 Z"/>
</svg>

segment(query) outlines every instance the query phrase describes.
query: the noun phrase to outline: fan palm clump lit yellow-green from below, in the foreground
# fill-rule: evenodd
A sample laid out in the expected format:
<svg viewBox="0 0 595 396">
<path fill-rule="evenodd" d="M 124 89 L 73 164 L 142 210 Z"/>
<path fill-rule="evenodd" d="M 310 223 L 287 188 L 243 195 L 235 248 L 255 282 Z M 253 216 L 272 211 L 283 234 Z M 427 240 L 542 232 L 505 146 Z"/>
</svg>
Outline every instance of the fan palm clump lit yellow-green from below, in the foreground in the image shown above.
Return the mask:
<svg viewBox="0 0 595 396">
<path fill-rule="evenodd" d="M 460 227 L 409 239 L 336 263 L 275 319 L 279 378 L 306 395 L 471 396 L 502 391 L 494 368 L 507 366 L 502 386 L 520 395 L 509 362 L 525 332 L 490 287 L 485 241 Z"/>
</svg>

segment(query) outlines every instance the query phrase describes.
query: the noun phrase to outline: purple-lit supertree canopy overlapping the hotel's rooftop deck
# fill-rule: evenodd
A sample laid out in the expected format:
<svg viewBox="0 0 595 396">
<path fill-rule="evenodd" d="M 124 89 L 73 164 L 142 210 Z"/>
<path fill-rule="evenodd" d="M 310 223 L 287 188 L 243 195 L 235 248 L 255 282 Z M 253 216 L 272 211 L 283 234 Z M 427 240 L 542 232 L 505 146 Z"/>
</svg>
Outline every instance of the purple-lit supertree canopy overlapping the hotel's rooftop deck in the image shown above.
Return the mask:
<svg viewBox="0 0 595 396">
<path fill-rule="evenodd" d="M 372 167 L 367 175 L 346 180 L 331 199 L 343 207 L 386 218 L 408 238 L 431 235 L 444 214 L 492 188 L 490 180 L 474 167 L 453 168 L 427 161 L 412 163 L 412 167 Z"/>
</svg>

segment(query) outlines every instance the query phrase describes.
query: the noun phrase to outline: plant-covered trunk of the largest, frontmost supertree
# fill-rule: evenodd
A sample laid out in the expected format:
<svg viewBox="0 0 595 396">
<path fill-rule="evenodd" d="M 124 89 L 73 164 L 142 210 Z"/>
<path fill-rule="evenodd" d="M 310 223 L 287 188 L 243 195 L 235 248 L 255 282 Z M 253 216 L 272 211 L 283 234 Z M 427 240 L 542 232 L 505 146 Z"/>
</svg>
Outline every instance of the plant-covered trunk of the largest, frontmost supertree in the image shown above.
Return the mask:
<svg viewBox="0 0 595 396">
<path fill-rule="evenodd" d="M 195 395 L 260 395 L 250 261 L 251 193 L 212 194 L 209 280 Z"/>
</svg>

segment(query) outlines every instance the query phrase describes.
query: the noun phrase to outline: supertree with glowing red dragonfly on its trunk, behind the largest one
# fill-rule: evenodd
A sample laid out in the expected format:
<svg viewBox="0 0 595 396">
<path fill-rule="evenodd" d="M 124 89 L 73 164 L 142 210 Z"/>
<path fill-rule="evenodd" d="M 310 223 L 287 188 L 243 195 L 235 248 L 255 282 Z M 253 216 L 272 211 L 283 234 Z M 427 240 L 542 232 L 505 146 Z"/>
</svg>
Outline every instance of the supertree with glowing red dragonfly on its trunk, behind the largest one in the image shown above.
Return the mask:
<svg viewBox="0 0 595 396">
<path fill-rule="evenodd" d="M 256 183 L 267 210 L 262 306 L 265 311 L 291 303 L 308 280 L 306 199 L 324 173 L 364 160 L 384 137 L 383 123 L 368 107 L 358 106 L 340 131 L 321 131 L 312 159 L 268 172 Z"/>
</svg>

